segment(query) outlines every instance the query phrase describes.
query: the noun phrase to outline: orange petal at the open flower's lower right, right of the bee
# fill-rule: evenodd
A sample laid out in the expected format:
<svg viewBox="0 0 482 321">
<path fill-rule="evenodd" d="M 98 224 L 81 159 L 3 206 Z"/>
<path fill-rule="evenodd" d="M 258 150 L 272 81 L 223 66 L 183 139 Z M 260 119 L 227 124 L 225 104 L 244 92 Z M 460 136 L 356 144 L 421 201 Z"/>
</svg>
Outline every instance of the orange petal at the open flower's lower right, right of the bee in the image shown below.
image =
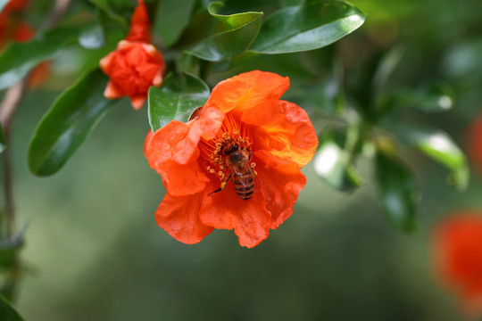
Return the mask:
<svg viewBox="0 0 482 321">
<path fill-rule="evenodd" d="M 256 161 L 266 209 L 271 212 L 270 228 L 274 229 L 293 213 L 298 193 L 306 185 L 306 177 L 294 162 L 273 158 L 270 152 L 254 152 L 253 161 Z"/>
</svg>

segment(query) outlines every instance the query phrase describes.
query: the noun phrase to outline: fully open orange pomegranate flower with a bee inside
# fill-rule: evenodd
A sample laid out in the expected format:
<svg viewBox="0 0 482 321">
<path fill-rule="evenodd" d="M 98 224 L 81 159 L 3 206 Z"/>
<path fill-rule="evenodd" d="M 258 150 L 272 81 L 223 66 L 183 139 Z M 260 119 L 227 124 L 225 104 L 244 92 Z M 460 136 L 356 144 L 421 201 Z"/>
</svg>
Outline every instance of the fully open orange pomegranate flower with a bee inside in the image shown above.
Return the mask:
<svg viewBox="0 0 482 321">
<path fill-rule="evenodd" d="M 145 138 L 149 165 L 166 187 L 157 224 L 183 243 L 234 229 L 253 247 L 293 213 L 318 138 L 302 108 L 279 100 L 289 79 L 254 70 L 220 82 L 187 123 Z"/>
</svg>

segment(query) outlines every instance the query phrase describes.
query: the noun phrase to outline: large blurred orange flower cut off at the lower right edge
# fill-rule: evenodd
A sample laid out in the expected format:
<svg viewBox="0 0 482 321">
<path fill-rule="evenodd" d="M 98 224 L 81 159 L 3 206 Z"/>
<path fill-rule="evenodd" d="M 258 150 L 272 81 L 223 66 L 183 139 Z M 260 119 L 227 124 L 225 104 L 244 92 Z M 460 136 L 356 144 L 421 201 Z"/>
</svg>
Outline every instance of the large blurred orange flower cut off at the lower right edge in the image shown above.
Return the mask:
<svg viewBox="0 0 482 321">
<path fill-rule="evenodd" d="M 466 211 L 446 219 L 435 233 L 436 268 L 460 297 L 470 317 L 482 314 L 482 213 Z"/>
</svg>

